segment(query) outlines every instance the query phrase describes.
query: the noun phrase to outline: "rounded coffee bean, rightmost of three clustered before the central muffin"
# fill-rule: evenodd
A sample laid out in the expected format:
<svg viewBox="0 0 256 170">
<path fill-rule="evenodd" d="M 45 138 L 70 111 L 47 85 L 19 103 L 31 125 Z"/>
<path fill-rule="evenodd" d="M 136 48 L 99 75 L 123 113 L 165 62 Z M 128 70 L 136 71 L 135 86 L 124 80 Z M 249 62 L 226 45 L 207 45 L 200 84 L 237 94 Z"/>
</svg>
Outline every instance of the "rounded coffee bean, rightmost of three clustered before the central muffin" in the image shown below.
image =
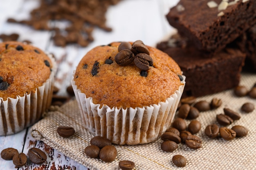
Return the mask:
<svg viewBox="0 0 256 170">
<path fill-rule="evenodd" d="M 105 162 L 112 162 L 115 160 L 115 158 L 117 157 L 117 149 L 115 148 L 115 146 L 104 146 L 100 151 L 99 151 L 99 158 L 102 161 Z"/>
</svg>

